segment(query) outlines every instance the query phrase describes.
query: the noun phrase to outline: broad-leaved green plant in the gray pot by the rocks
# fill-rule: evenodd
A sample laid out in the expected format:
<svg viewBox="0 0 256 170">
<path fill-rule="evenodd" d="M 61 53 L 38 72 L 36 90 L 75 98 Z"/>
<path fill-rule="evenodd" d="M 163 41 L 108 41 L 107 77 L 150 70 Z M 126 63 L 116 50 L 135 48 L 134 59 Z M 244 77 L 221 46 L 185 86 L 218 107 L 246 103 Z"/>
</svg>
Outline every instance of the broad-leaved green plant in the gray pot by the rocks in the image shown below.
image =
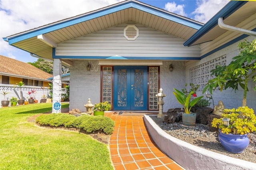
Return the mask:
<svg viewBox="0 0 256 170">
<path fill-rule="evenodd" d="M 202 99 L 204 96 L 200 96 L 198 98 L 194 97 L 191 99 L 191 96 L 194 94 L 193 91 L 191 91 L 188 96 L 186 96 L 184 93 L 180 92 L 177 89 L 173 89 L 175 92 L 173 92 L 174 96 L 176 97 L 179 104 L 181 104 L 184 107 L 185 113 L 189 114 L 191 107 L 193 107 L 198 100 Z"/>
</svg>

